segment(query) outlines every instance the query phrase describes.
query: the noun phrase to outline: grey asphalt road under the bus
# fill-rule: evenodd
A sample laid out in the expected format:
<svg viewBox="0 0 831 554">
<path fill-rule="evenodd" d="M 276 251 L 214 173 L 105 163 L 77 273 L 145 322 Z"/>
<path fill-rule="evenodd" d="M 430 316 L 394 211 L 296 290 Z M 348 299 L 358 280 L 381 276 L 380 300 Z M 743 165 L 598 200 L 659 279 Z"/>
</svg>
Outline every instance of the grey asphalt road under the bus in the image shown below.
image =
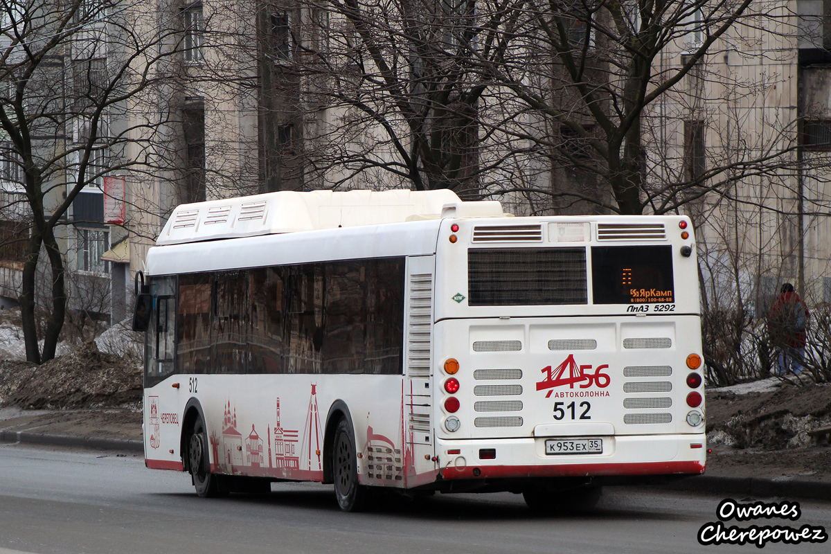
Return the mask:
<svg viewBox="0 0 831 554">
<path fill-rule="evenodd" d="M 338 511 L 332 488 L 275 484 L 268 496 L 198 498 L 184 473 L 152 471 L 139 456 L 0 444 L 0 554 L 120 552 L 756 552 L 701 546 L 719 497 L 607 488 L 588 514 L 539 517 L 519 495 L 435 495 Z M 739 499 L 750 502 L 750 499 Z M 781 500 L 781 499 L 777 499 Z M 752 524 L 831 530 L 831 504 Z M 768 544 L 764 552 L 829 552 L 831 542 Z"/>
</svg>

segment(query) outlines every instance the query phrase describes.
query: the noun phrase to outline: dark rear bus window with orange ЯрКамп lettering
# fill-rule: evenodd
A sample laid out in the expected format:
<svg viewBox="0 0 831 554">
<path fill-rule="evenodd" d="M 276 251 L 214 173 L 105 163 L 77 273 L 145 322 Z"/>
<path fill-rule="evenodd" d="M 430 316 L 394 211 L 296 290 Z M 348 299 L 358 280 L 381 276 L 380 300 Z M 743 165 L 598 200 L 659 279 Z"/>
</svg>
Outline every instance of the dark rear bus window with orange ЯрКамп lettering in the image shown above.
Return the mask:
<svg viewBox="0 0 831 554">
<path fill-rule="evenodd" d="M 595 304 L 675 302 L 671 246 L 592 247 Z"/>
</svg>

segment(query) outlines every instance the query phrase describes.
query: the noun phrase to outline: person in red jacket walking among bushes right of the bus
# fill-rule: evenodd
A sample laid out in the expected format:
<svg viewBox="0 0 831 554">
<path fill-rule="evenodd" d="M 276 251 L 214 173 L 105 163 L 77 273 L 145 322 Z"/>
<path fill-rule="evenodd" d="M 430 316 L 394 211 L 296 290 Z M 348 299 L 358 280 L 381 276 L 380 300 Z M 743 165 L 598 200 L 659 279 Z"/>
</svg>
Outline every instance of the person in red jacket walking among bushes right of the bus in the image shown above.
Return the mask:
<svg viewBox="0 0 831 554">
<path fill-rule="evenodd" d="M 794 286 L 789 282 L 784 283 L 779 298 L 770 306 L 768 317 L 770 341 L 779 351 L 776 356 L 776 375 L 802 371 L 808 317 L 808 306 L 794 292 Z"/>
</svg>

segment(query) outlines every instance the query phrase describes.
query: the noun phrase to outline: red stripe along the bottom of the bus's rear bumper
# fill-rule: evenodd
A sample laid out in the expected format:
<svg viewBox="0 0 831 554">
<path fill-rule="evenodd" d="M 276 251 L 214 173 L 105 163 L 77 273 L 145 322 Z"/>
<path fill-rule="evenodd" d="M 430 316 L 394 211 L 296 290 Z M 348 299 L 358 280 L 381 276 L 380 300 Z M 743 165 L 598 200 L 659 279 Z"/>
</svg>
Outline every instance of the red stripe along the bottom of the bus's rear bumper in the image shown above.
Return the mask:
<svg viewBox="0 0 831 554">
<path fill-rule="evenodd" d="M 474 475 L 479 469 L 479 475 Z M 666 475 L 671 473 L 704 473 L 701 462 L 648 463 L 568 463 L 558 465 L 483 465 L 465 468 L 444 468 L 445 479 L 578 477 L 599 475 Z"/>
</svg>

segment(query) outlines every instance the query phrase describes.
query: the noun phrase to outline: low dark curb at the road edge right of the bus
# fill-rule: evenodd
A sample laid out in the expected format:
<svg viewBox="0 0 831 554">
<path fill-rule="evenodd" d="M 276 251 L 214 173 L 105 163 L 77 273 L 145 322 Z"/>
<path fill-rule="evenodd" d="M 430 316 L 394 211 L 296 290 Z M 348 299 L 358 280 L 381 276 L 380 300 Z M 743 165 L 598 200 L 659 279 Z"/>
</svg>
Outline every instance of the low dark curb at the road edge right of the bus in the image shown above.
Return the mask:
<svg viewBox="0 0 831 554">
<path fill-rule="evenodd" d="M 701 475 L 665 483 L 663 488 L 701 493 L 746 494 L 755 497 L 783 497 L 789 500 L 831 500 L 831 483 L 799 479 L 760 479 Z"/>
</svg>

